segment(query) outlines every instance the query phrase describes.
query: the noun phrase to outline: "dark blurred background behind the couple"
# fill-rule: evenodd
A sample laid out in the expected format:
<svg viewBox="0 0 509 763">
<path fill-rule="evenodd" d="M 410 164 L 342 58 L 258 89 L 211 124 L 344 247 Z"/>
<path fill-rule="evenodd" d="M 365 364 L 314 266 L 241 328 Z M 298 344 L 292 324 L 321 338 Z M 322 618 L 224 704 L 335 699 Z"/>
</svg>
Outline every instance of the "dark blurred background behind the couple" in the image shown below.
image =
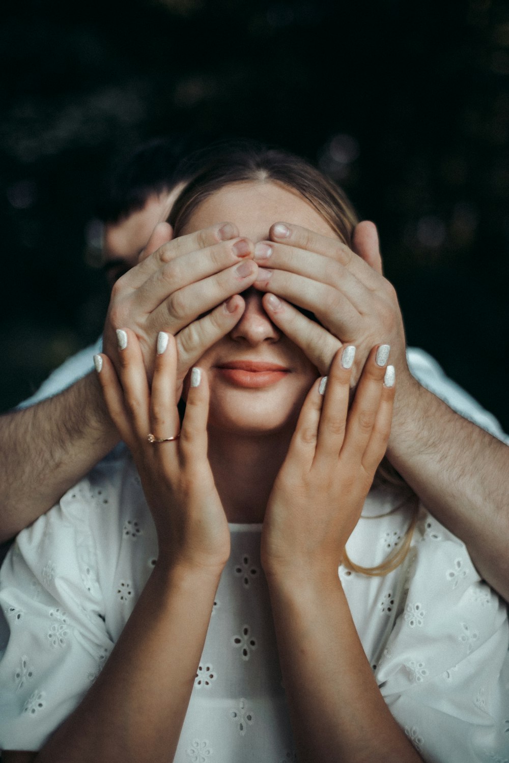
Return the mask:
<svg viewBox="0 0 509 763">
<path fill-rule="evenodd" d="M 379 226 L 408 342 L 509 430 L 507 2 L 26 0 L 2 17 L 2 410 L 101 331 L 111 161 L 198 128 L 330 172 Z"/>
</svg>

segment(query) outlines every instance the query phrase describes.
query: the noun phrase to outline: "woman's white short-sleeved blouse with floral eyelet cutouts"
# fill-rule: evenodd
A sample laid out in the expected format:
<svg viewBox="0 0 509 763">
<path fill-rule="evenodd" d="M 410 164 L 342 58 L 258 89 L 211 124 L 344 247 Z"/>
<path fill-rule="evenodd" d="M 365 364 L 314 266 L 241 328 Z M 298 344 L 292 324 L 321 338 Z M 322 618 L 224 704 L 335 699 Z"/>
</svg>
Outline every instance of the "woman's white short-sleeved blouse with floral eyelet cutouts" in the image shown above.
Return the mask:
<svg viewBox="0 0 509 763">
<path fill-rule="evenodd" d="M 382 562 L 401 542 L 414 500 L 394 488 L 372 490 L 347 546 L 350 559 Z M 175 761 L 292 761 L 261 526 L 230 531 L 230 560 Z M 40 749 L 79 704 L 156 555 L 129 457 L 98 465 L 20 533 L 0 572 L 0 748 Z M 424 760 L 509 758 L 506 607 L 462 542 L 420 507 L 403 565 L 382 578 L 338 572 L 385 701 Z"/>
</svg>

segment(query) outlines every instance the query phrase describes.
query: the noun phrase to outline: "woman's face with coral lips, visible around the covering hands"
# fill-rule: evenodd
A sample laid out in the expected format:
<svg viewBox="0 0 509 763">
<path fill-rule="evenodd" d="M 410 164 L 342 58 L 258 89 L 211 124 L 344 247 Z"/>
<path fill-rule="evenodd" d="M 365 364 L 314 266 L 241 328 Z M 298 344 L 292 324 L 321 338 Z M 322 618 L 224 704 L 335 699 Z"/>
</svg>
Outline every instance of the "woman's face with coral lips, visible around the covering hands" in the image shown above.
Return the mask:
<svg viewBox="0 0 509 763">
<path fill-rule="evenodd" d="M 255 243 L 266 240 L 278 221 L 336 238 L 308 201 L 272 182 L 221 188 L 200 204 L 182 234 L 227 221 Z M 246 309 L 237 326 L 196 363 L 208 375 L 211 427 L 251 435 L 293 428 L 317 378 L 301 349 L 269 320 L 262 296 L 255 288 L 243 294 Z"/>
</svg>

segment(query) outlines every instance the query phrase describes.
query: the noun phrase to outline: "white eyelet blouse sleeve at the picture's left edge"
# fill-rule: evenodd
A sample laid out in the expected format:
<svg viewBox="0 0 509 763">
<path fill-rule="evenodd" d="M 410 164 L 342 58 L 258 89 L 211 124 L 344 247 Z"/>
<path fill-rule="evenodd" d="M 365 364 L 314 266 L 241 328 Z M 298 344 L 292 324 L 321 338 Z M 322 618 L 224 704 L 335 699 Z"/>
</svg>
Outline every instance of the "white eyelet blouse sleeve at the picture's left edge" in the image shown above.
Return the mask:
<svg viewBox="0 0 509 763">
<path fill-rule="evenodd" d="M 20 533 L 2 566 L 0 749 L 43 747 L 113 647 L 95 575 L 88 485 Z"/>
</svg>

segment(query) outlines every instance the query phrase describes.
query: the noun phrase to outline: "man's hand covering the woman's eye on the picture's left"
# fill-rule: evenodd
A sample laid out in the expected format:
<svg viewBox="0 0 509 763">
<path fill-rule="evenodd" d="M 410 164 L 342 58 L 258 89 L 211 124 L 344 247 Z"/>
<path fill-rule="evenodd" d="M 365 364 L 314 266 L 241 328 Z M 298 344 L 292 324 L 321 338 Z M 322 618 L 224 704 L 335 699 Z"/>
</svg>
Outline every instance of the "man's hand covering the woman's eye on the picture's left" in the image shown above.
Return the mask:
<svg viewBox="0 0 509 763">
<path fill-rule="evenodd" d="M 176 338 L 176 399 L 188 370 L 208 347 L 237 324 L 245 303 L 239 293 L 253 285 L 258 266 L 253 243 L 234 224 L 217 224 L 172 239 L 159 223 L 140 262 L 114 284 L 105 321 L 103 349 L 117 356 L 116 330 L 137 335 L 149 378 L 153 343 L 161 330 Z"/>
</svg>

